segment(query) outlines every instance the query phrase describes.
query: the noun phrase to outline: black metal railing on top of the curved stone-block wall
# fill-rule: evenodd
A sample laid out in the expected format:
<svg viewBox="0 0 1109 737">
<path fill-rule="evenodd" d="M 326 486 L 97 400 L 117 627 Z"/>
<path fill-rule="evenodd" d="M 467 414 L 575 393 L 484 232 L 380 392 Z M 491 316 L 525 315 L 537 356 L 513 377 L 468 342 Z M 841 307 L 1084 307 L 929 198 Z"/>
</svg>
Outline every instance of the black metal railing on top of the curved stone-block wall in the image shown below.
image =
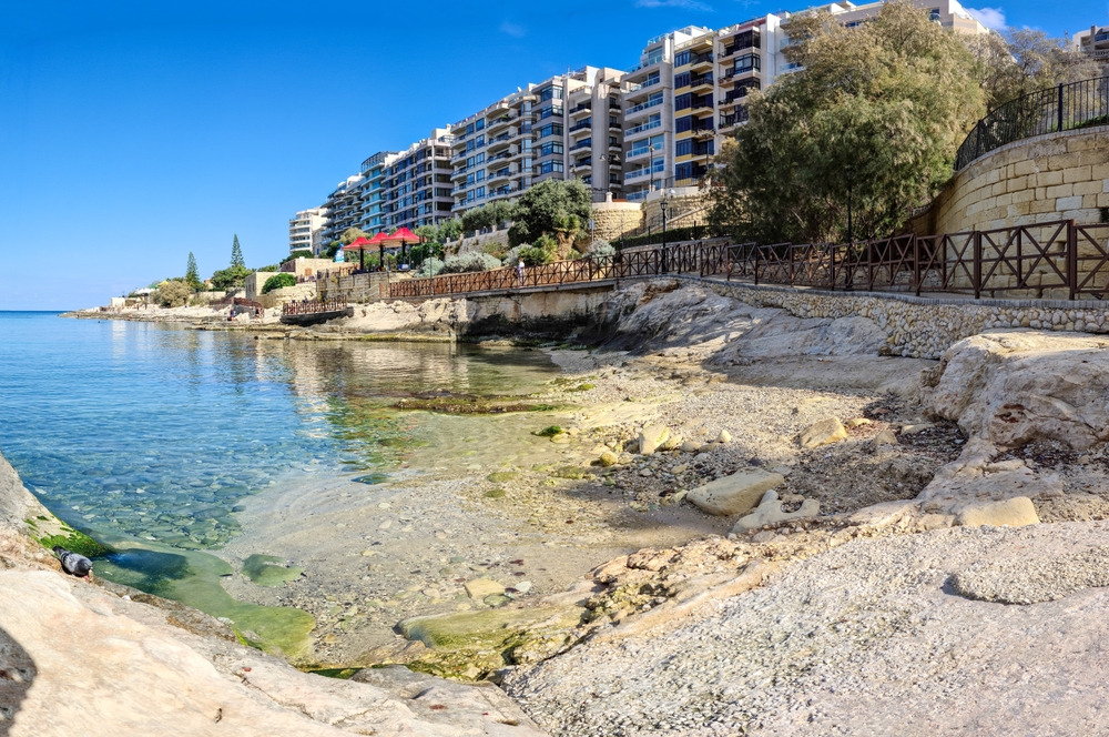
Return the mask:
<svg viewBox="0 0 1109 737">
<path fill-rule="evenodd" d="M 955 154 L 955 171 L 1020 139 L 1102 123 L 1109 124 L 1109 77 L 1037 90 L 979 120 Z"/>
</svg>

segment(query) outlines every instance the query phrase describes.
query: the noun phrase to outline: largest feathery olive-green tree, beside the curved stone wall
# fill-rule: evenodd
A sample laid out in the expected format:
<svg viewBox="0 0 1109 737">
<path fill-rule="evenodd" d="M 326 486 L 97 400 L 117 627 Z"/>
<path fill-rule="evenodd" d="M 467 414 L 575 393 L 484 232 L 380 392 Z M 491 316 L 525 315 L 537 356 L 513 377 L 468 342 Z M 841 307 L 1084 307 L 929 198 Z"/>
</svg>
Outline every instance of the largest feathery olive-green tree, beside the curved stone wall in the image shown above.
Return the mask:
<svg viewBox="0 0 1109 737">
<path fill-rule="evenodd" d="M 950 178 L 985 111 L 974 58 L 909 2 L 845 28 L 827 11 L 794 16 L 803 71 L 753 92 L 750 121 L 723 147 L 711 219 L 749 240 L 821 242 L 886 235 Z"/>
</svg>

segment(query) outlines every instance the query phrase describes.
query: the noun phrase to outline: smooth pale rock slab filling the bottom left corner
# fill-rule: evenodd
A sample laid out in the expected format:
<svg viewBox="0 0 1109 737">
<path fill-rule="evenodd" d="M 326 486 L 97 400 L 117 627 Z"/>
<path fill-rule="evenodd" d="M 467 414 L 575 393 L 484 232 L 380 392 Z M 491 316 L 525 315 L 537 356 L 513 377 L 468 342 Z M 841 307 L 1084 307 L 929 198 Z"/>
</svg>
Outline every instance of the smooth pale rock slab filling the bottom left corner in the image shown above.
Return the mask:
<svg viewBox="0 0 1109 737">
<path fill-rule="evenodd" d="M 7 737 L 542 735 L 492 686 L 406 669 L 352 680 L 301 673 L 181 605 L 155 606 L 143 602 L 156 597 L 64 576 L 24 532 L 28 497 L 0 458 Z"/>
</svg>

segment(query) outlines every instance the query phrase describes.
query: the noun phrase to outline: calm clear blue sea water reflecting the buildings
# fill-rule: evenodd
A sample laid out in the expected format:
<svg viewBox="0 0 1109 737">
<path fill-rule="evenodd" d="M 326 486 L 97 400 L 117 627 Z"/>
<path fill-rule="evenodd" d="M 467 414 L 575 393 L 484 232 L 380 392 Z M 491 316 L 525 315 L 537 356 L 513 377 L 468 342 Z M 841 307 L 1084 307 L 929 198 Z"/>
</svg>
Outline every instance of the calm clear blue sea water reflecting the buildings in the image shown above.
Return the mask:
<svg viewBox="0 0 1109 737">
<path fill-rule="evenodd" d="M 247 495 L 386 477 L 428 416 L 387 408 L 398 397 L 527 393 L 554 373 L 539 352 L 0 312 L 0 452 L 93 536 L 218 548 Z"/>
</svg>

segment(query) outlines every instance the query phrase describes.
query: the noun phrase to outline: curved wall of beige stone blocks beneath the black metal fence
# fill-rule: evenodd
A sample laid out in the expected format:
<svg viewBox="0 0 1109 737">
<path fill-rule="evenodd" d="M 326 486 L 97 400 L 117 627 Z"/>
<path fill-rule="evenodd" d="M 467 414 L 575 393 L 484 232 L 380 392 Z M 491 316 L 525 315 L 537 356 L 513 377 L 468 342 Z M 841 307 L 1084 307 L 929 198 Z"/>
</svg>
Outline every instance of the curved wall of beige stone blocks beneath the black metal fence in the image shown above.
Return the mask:
<svg viewBox="0 0 1109 737">
<path fill-rule="evenodd" d="M 1051 220 L 1100 221 L 1109 206 L 1109 125 L 1016 141 L 963 170 L 917 218 L 919 235 Z"/>
</svg>

